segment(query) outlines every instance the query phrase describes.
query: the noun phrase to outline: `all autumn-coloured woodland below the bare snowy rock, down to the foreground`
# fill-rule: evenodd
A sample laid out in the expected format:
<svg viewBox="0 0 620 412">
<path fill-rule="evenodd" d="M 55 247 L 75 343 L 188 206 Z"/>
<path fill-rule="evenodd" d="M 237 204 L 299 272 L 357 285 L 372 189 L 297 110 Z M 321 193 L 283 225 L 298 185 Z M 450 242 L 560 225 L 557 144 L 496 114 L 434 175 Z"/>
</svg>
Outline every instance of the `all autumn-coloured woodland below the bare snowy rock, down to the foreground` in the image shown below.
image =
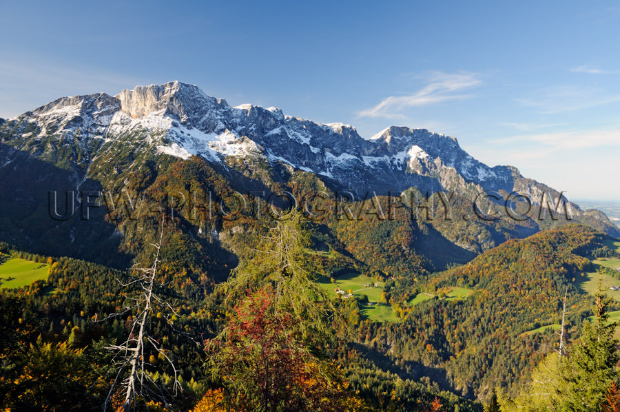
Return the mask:
<svg viewBox="0 0 620 412">
<path fill-rule="evenodd" d="M 81 188 L 105 192 L 87 220 L 78 203 L 66 220 L 45 210 L 48 187 L 73 188 L 60 152 L 18 159 L 26 186 L 0 176 L 23 199 L 0 199 L 0 263 L 47 268 L 0 289 L 4 409 L 511 410 L 558 368 L 557 396 L 539 410 L 561 410 L 545 402 L 591 382 L 592 402 L 567 410 L 614 407 L 615 341 L 603 326 L 620 308 L 584 287 L 592 260 L 618 257 L 606 235 L 561 219 L 535 233 L 508 218 L 454 218 L 471 213 L 465 194 L 444 204 L 410 189 L 417 203 L 398 207 L 341 199 L 329 179 L 285 165 L 154 159 L 132 142 L 90 165 Z M 326 196 L 307 196 L 316 192 Z M 282 193 L 306 201 L 291 211 Z M 139 269 L 153 265 L 145 282 Z M 335 292 L 351 278 L 368 290 Z M 599 336 L 606 345 L 592 346 Z M 606 375 L 580 372 L 583 353 L 599 352 Z M 132 376 L 141 384 L 123 391 Z"/>
</svg>

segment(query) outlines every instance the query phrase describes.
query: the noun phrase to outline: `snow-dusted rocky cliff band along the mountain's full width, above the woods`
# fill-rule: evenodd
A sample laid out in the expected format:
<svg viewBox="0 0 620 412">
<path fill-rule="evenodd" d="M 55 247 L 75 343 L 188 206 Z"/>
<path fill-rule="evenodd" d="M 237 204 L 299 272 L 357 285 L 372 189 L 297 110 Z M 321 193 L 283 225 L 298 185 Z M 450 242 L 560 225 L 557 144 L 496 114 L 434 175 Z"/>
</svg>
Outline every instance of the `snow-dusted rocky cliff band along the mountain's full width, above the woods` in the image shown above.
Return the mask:
<svg viewBox="0 0 620 412">
<path fill-rule="evenodd" d="M 134 150 L 152 155 L 196 155 L 223 165 L 230 158 L 260 158 L 314 173 L 360 197 L 409 187 L 472 195 L 518 191 L 534 203 L 543 192 L 559 196 L 514 167 L 477 161 L 450 136 L 389 127 L 364 139 L 349 125 L 285 116 L 275 107 L 231 107 L 178 81 L 138 86 L 116 96 L 64 97 L 0 127 L 3 141 L 43 159 L 57 159 L 61 150 L 70 150 L 65 160 L 76 180 L 87 177 L 94 158 L 129 141 Z M 570 209 L 583 213 L 572 203 Z"/>
</svg>

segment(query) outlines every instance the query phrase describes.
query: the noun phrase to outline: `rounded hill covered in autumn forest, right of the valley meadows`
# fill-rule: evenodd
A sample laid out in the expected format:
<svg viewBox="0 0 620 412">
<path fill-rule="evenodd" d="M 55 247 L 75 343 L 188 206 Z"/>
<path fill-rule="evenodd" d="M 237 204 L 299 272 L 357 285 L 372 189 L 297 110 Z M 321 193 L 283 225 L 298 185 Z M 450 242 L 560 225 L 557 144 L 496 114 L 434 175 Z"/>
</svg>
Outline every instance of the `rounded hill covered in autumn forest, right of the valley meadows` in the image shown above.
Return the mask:
<svg viewBox="0 0 620 412">
<path fill-rule="evenodd" d="M 486 398 L 499 385 L 515 392 L 528 375 L 522 373 L 557 343 L 552 331 L 524 332 L 559 322 L 565 291 L 571 339 L 591 315 L 591 296 L 580 281 L 606 238 L 583 225 L 564 225 L 509 240 L 420 285 L 435 298 L 417 303 L 401 324 L 371 333 L 373 344 L 397 359 L 445 369 L 464 393 Z M 441 298 L 448 287 L 472 291 L 464 299 Z M 409 299 L 410 291 L 395 285 L 391 293 Z"/>
</svg>

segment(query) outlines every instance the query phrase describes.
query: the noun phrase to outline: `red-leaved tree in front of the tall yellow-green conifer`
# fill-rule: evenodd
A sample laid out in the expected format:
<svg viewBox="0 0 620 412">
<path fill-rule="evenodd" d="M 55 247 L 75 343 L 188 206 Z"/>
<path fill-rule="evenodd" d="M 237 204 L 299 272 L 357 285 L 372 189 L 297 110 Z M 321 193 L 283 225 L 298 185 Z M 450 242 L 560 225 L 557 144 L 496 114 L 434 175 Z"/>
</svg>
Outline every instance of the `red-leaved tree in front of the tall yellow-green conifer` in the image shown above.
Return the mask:
<svg viewBox="0 0 620 412">
<path fill-rule="evenodd" d="M 234 399 L 249 410 L 276 410 L 304 398 L 304 351 L 295 320 L 273 307 L 273 289 L 258 291 L 235 307 L 225 342 L 212 342 L 217 371 Z"/>
</svg>

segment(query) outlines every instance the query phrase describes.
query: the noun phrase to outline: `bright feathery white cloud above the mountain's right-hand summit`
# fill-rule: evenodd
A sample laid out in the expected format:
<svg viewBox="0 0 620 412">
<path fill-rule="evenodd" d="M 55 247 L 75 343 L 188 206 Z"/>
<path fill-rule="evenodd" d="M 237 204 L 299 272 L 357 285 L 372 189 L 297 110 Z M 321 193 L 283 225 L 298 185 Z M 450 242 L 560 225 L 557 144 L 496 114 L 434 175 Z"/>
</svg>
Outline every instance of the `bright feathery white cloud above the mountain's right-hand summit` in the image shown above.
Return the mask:
<svg viewBox="0 0 620 412">
<path fill-rule="evenodd" d="M 405 96 L 389 96 L 378 105 L 358 112 L 358 117 L 402 118 L 404 115 L 401 112 L 407 107 L 467 99 L 472 95 L 463 94 L 462 91 L 481 84 L 482 81 L 477 79 L 475 74 L 435 72 L 428 77 L 427 84 L 417 92 Z"/>
</svg>

